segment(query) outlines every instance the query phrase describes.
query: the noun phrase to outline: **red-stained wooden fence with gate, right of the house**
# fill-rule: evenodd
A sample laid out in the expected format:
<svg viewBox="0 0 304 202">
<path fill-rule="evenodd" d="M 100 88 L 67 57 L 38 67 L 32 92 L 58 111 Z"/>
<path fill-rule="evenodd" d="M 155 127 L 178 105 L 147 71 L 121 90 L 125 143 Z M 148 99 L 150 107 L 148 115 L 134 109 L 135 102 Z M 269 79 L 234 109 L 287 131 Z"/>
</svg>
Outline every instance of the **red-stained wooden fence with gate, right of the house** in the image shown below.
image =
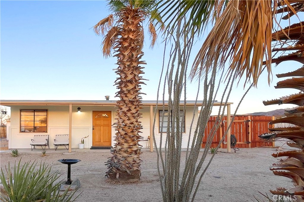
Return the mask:
<svg viewBox="0 0 304 202">
<path fill-rule="evenodd" d="M 265 142 L 259 139 L 259 135 L 268 133 L 268 128 L 273 127 L 269 124 L 274 117 L 271 116 L 236 116 L 230 127 L 231 134 L 237 138 L 237 148 L 251 148 L 261 146 L 274 146 L 272 142 Z M 205 128 L 205 135 L 202 140 L 202 147 L 206 145 L 206 141 L 213 125 L 216 124 L 216 117 L 211 116 Z M 225 131 L 227 130 L 227 116 L 223 117 L 220 127 L 216 130 L 211 147 L 217 147 Z M 227 137 L 221 144 L 220 148 L 227 148 Z"/>
</svg>

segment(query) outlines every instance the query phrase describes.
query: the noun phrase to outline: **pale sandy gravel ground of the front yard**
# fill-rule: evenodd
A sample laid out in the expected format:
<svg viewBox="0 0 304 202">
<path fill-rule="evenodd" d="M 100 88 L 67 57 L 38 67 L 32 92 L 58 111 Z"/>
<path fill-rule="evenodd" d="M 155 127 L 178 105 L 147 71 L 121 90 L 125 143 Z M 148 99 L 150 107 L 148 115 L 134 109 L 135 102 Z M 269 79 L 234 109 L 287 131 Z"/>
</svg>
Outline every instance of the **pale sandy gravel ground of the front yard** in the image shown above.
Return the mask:
<svg viewBox="0 0 304 202">
<path fill-rule="evenodd" d="M 65 150 L 66 151 L 66 150 Z M 62 179 L 66 179 L 67 166 L 57 162 L 62 158 L 80 159 L 81 162 L 71 166 L 71 178 L 79 178 L 82 192 L 78 202 L 85 201 L 162 201 L 160 182 L 156 168 L 156 153 L 143 151 L 142 183 L 113 185 L 106 183 L 104 162 L 110 157 L 108 151 L 83 150 L 76 154 L 64 155 L 64 150 L 57 153 L 48 151 L 49 156 L 41 157 L 40 151 L 22 153 L 19 157 L 12 157 L 9 153 L 1 153 L 1 167 L 19 161 L 42 160 L 49 164 L 54 163 L 53 169 L 59 170 Z M 275 176 L 269 166 L 276 162 L 271 156 L 273 148 L 240 149 L 237 153 L 218 152 L 208 171 L 203 177 L 195 201 L 252 201 L 254 196 L 264 199 L 258 191 L 268 193 L 276 187 L 292 187 L 291 180 Z M 208 155 L 208 158 L 211 154 Z M 182 152 L 185 158 L 185 152 Z M 183 165 L 182 165 L 183 167 Z"/>
</svg>

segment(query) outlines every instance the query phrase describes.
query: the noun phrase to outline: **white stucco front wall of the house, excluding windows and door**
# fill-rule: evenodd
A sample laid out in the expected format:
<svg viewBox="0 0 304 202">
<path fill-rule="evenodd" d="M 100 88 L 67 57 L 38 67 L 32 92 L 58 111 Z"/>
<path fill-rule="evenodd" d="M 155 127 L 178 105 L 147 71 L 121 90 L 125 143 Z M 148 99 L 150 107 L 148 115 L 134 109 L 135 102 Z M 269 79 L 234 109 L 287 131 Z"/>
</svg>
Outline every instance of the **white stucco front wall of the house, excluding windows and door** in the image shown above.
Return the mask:
<svg viewBox="0 0 304 202">
<path fill-rule="evenodd" d="M 81 113 L 76 112 L 77 108 L 81 107 Z M 20 133 L 20 110 L 21 109 L 47 109 L 47 133 Z M 73 106 L 72 107 L 72 148 L 78 148 L 78 143 L 82 137 L 89 136 L 85 138 L 85 148 L 92 146 L 92 112 L 93 111 L 111 111 L 112 113 L 112 124 L 115 122 L 115 111 L 114 107 L 102 107 L 102 106 Z M 155 107 L 153 108 L 153 111 Z M 161 110 L 161 108 L 158 108 Z M 160 142 L 159 133 L 159 120 L 158 120 L 158 110 L 156 115 L 156 122 L 154 132 L 156 135 L 156 142 Z M 195 121 L 197 120 L 197 108 L 195 109 Z M 143 139 L 146 140 L 150 136 L 150 106 L 143 107 L 141 109 L 143 118 L 140 119 L 142 122 L 143 129 L 140 134 Z M 186 107 L 185 114 L 185 130 L 183 134 L 182 147 L 187 147 L 187 141 L 190 131 L 190 124 L 193 116 L 193 107 Z M 195 130 L 195 125 L 192 127 L 192 133 Z M 57 134 L 69 134 L 69 106 L 11 106 L 11 125 L 9 129 L 9 149 L 30 149 L 31 139 L 33 139 L 35 134 L 47 134 L 49 135 L 49 145 L 50 148 L 54 148 L 54 139 Z M 112 146 L 115 144 L 114 137 L 115 129 L 112 127 Z M 152 134 L 151 134 L 152 136 Z M 165 134 L 163 134 L 163 142 L 165 141 Z M 143 148 L 146 147 L 146 141 L 141 142 Z M 39 148 L 39 147 L 37 147 Z M 59 146 L 59 148 L 64 148 L 64 146 Z"/>
</svg>

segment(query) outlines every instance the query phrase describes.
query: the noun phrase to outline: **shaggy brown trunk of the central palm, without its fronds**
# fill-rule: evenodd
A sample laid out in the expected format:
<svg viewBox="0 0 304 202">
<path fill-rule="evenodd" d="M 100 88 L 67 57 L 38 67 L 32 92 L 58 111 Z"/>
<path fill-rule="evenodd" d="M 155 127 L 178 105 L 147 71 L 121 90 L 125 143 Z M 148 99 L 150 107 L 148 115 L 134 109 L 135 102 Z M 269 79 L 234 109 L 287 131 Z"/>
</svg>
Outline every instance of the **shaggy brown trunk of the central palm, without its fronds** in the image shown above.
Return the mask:
<svg viewBox="0 0 304 202">
<path fill-rule="evenodd" d="M 116 102 L 117 121 L 115 122 L 116 144 L 109 159 L 107 176 L 109 181 L 114 183 L 129 183 L 140 180 L 140 151 L 139 135 L 142 129 L 140 97 L 141 76 L 143 67 L 146 64 L 140 61 L 142 52 L 142 25 L 143 17 L 139 9 L 125 8 L 121 11 L 118 20 L 122 26 L 118 30 L 118 43 L 114 47 L 117 54 L 118 68 L 116 74 L 117 89 L 116 97 L 120 100 Z"/>
</svg>

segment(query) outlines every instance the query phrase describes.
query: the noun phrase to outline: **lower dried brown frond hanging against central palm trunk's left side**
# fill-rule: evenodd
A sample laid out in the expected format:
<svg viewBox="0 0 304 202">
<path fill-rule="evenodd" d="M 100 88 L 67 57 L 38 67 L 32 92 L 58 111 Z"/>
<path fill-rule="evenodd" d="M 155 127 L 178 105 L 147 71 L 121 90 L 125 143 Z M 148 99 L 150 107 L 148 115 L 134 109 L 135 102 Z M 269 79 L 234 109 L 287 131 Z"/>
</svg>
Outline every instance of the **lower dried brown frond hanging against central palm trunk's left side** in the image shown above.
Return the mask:
<svg viewBox="0 0 304 202">
<path fill-rule="evenodd" d="M 105 35 L 105 38 L 102 41 L 102 53 L 105 58 L 111 55 L 111 51 L 115 45 L 117 37 L 118 37 L 117 26 L 112 27 Z"/>
</svg>

